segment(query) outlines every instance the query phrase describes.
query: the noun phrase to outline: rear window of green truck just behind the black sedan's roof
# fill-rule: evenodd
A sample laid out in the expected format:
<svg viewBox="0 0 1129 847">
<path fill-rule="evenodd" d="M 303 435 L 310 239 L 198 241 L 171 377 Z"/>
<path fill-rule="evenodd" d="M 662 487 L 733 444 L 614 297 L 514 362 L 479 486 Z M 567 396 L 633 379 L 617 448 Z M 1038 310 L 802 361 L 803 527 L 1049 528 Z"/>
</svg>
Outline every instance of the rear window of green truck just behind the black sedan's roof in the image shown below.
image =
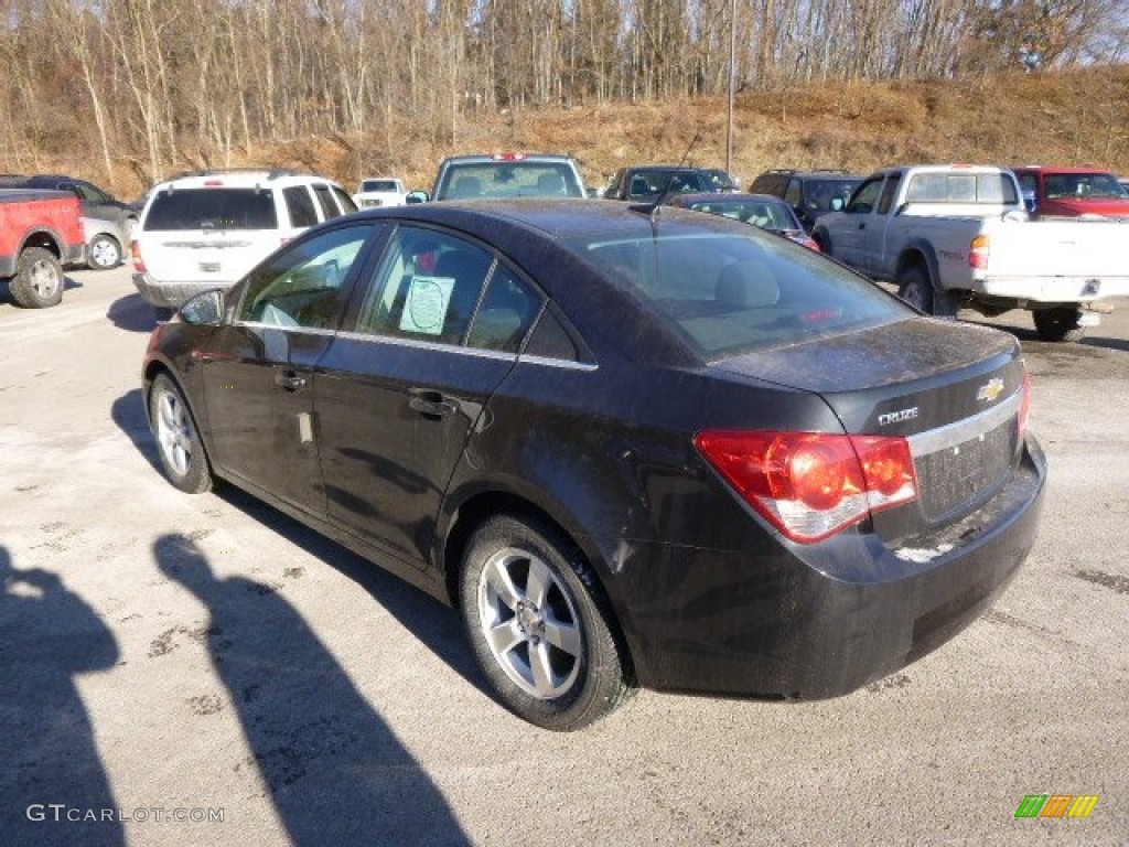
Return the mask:
<svg viewBox="0 0 1129 847">
<path fill-rule="evenodd" d="M 583 198 L 584 187 L 563 161 L 483 161 L 448 165 L 436 200 L 475 198 Z"/>
</svg>

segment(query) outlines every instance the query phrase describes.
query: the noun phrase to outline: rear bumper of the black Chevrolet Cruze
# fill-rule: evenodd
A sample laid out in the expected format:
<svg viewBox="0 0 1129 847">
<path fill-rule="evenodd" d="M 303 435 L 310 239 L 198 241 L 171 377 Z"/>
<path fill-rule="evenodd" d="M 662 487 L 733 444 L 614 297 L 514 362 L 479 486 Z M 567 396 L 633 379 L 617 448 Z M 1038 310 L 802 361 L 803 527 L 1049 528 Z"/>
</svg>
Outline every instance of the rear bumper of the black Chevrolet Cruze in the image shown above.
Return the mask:
<svg viewBox="0 0 1129 847">
<path fill-rule="evenodd" d="M 1004 490 L 924 549 L 859 532 L 763 556 L 637 551 L 619 587 L 639 683 L 821 699 L 920 658 L 991 605 L 1034 543 L 1047 469 L 1029 447 Z"/>
</svg>

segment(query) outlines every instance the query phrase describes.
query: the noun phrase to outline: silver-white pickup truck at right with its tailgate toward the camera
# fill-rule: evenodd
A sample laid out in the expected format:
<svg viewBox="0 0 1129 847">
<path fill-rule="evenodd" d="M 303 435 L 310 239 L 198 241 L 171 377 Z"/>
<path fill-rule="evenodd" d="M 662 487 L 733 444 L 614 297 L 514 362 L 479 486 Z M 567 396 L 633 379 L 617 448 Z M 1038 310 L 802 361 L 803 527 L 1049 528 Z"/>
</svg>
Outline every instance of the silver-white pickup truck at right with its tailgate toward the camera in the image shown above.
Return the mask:
<svg viewBox="0 0 1129 847">
<path fill-rule="evenodd" d="M 1031 220 L 1010 171 L 892 167 L 869 176 L 812 237 L 922 312 L 1033 313 L 1045 341 L 1077 341 L 1129 296 L 1129 224 Z"/>
</svg>

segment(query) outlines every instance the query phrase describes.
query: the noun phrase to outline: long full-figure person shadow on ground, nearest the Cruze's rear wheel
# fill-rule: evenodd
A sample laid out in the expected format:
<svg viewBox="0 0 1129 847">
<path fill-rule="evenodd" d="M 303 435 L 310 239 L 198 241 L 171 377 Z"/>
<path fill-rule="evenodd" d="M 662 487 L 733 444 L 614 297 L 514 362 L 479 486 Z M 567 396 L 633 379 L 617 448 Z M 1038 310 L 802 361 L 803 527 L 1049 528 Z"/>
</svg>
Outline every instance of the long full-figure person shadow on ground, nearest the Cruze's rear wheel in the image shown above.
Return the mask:
<svg viewBox="0 0 1129 847">
<path fill-rule="evenodd" d="M 183 535 L 160 536 L 154 555 L 208 608 L 207 645 L 252 750 L 245 763 L 257 767 L 291 844 L 470 842 L 427 771 L 277 590 L 217 578 Z"/>
</svg>

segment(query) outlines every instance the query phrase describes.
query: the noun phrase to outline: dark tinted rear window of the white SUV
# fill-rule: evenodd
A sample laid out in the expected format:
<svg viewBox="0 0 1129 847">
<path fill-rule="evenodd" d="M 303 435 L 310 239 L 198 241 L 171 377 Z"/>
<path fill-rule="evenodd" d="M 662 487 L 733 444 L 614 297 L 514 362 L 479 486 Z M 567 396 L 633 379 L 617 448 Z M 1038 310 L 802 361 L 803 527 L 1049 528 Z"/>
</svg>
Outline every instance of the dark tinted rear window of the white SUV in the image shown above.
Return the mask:
<svg viewBox="0 0 1129 847">
<path fill-rule="evenodd" d="M 145 229 L 278 229 L 270 191 L 259 189 L 176 189 L 161 191 L 146 215 Z"/>
</svg>

